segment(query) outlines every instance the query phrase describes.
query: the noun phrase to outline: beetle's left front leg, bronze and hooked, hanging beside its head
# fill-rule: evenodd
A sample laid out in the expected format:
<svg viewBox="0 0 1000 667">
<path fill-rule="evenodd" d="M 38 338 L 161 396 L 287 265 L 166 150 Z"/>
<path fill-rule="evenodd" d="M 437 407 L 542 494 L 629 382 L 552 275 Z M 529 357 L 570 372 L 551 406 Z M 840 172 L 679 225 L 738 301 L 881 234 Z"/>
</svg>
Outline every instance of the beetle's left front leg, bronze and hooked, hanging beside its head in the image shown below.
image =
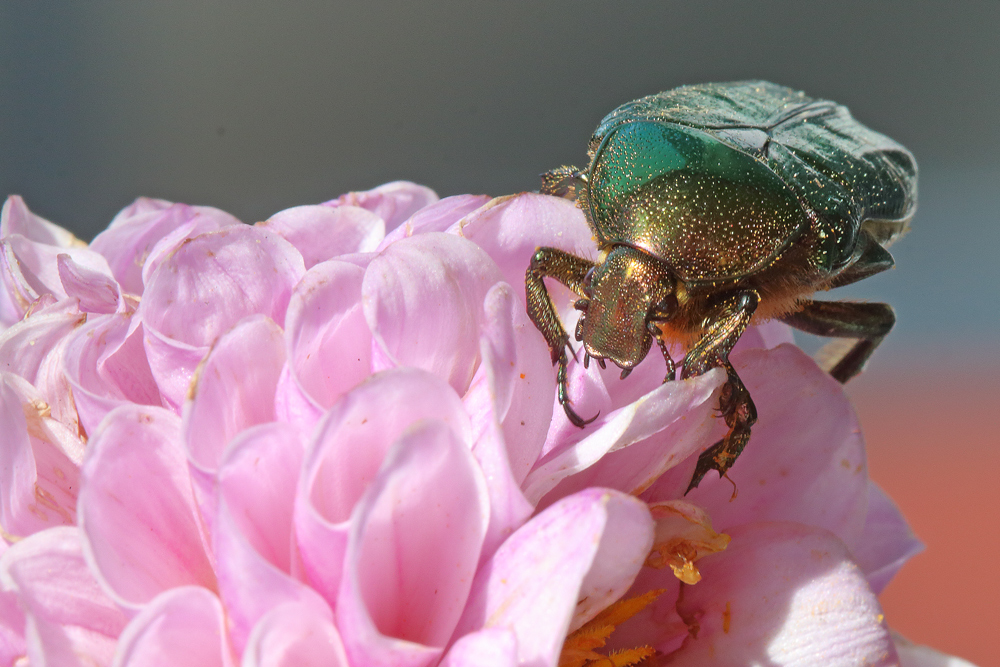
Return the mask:
<svg viewBox="0 0 1000 667">
<path fill-rule="evenodd" d="M 594 263 L 590 260 L 571 255 L 557 248 L 538 248 L 531 256 L 531 265 L 528 266 L 524 277 L 528 317 L 542 332 L 545 342 L 549 344 L 553 365 L 558 364 L 559 366 L 556 373 L 559 383 L 559 404 L 563 406 L 567 419 L 574 426 L 581 428 L 596 419 L 597 415 L 585 420 L 570 407 L 569 381 L 566 370 L 569 364 L 569 358 L 566 355 L 566 348 L 569 347 L 569 336 L 566 334 L 562 322 L 559 321 L 559 315 L 556 313 L 555 306 L 552 304 L 552 299 L 549 297 L 549 292 L 545 289 L 545 282 L 542 279 L 546 276 L 555 278 L 580 296 L 584 296 L 584 279 L 593 266 Z"/>
</svg>

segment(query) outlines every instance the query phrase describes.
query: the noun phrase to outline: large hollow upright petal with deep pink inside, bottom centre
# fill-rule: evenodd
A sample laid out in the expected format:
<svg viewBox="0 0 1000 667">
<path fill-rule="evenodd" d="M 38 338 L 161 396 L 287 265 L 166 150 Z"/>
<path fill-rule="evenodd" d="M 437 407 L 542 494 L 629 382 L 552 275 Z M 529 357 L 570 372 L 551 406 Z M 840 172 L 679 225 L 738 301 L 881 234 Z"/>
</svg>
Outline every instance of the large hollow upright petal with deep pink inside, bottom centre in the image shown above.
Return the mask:
<svg viewBox="0 0 1000 667">
<path fill-rule="evenodd" d="M 351 517 L 336 613 L 352 663 L 440 657 L 488 521 L 485 480 L 468 447 L 441 421 L 409 430 Z"/>
</svg>

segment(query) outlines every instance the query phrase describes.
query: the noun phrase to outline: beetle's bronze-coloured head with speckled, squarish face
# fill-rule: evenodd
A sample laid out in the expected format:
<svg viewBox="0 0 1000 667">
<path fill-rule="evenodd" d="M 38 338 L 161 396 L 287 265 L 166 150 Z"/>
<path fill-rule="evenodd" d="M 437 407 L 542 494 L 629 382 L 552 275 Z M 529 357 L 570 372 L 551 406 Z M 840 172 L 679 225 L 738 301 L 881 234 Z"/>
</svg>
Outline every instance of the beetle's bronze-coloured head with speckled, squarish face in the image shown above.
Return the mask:
<svg viewBox="0 0 1000 667">
<path fill-rule="evenodd" d="M 667 266 L 630 246 L 615 246 L 590 273 L 579 329 L 592 357 L 629 370 L 646 357 L 650 322 L 677 312 L 676 280 Z"/>
</svg>

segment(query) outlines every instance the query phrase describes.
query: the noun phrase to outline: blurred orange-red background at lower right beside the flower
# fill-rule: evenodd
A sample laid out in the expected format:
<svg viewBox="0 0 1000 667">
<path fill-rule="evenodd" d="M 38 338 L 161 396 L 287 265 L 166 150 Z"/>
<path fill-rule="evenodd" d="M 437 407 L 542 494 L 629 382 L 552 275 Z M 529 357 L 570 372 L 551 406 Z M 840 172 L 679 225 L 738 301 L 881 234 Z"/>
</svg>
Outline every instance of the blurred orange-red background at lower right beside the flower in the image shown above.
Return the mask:
<svg viewBox="0 0 1000 667">
<path fill-rule="evenodd" d="M 848 385 L 870 475 L 927 545 L 882 593 L 888 622 L 980 667 L 1000 665 L 1000 363 L 986 353 L 876 357 Z"/>
</svg>

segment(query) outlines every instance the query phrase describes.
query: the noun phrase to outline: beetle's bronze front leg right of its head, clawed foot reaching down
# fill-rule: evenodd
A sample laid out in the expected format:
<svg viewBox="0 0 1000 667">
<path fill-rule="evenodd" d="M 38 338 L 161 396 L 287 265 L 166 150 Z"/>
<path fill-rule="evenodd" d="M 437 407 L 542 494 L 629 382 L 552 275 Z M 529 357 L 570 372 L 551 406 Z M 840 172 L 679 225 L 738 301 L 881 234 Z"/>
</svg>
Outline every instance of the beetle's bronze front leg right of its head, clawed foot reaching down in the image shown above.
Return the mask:
<svg viewBox="0 0 1000 667">
<path fill-rule="evenodd" d="M 708 333 L 684 357 L 683 377 L 700 375 L 716 366 L 726 369 L 727 381 L 719 399 L 719 411 L 729 432 L 698 457 L 687 493 L 698 486 L 709 470 L 725 475 L 750 440 L 750 429 L 757 423 L 757 406 L 750 398 L 740 376 L 729 363 L 729 352 L 746 331 L 760 297 L 748 290 L 727 296 L 706 319 L 712 324 Z"/>
</svg>

